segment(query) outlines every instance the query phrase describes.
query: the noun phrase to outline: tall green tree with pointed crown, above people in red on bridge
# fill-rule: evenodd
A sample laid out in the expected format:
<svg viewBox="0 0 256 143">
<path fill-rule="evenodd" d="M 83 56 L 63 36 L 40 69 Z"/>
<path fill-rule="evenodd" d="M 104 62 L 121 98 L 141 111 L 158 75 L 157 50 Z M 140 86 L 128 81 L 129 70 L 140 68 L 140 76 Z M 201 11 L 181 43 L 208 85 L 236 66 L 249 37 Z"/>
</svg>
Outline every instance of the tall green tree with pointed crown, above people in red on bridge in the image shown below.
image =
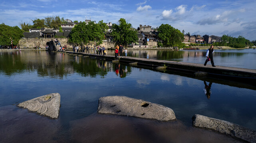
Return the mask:
<svg viewBox="0 0 256 143">
<path fill-rule="evenodd" d="M 131 23 L 127 23 L 125 19 L 119 19 L 119 25 L 113 24 L 112 27 L 113 31 L 111 35 L 116 44 L 126 46 L 127 44 L 135 43 L 138 40 L 137 31 L 131 30 Z"/>
</svg>

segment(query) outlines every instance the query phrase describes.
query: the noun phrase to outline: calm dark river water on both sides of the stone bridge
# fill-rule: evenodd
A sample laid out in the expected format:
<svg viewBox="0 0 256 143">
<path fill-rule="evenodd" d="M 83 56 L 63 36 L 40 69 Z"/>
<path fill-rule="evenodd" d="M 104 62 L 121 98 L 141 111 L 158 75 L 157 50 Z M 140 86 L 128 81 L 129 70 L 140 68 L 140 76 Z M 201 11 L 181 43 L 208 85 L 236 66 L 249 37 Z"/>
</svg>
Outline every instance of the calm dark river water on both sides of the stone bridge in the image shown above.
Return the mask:
<svg viewBox="0 0 256 143">
<path fill-rule="evenodd" d="M 236 61 L 234 67 L 255 69 L 252 65 L 255 65 L 256 53 L 246 50 L 216 50 L 214 61 L 221 65 L 218 61 L 232 58 L 231 61 Z M 128 53 L 135 57 L 195 63 L 203 63 L 204 54 L 203 50 Z M 236 141 L 212 131 L 192 128 L 194 114 L 256 129 L 256 87 L 243 83 L 195 79 L 180 73 L 156 72 L 144 67 L 46 51 L 0 52 L 0 81 L 1 143 Z M 61 95 L 57 120 L 16 106 L 49 93 Z M 113 95 L 172 108 L 177 121 L 158 122 L 97 114 L 99 97 Z"/>
</svg>

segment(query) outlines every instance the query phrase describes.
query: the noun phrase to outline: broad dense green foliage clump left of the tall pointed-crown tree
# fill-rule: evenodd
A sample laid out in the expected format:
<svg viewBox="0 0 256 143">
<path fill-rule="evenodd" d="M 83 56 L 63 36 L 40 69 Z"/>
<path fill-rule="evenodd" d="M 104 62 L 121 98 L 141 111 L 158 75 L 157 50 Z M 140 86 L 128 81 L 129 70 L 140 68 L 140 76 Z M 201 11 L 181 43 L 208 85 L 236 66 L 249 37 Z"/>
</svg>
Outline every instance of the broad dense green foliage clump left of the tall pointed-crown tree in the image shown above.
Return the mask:
<svg viewBox="0 0 256 143">
<path fill-rule="evenodd" d="M 106 29 L 102 28 L 102 23 L 94 23 L 90 21 L 88 24 L 85 22 L 81 22 L 71 30 L 69 34 L 68 42 L 71 44 L 87 44 L 89 41 L 96 42 L 97 44 L 101 44 L 102 40 L 104 39 L 104 31 Z M 107 27 L 106 23 L 104 23 Z"/>
</svg>

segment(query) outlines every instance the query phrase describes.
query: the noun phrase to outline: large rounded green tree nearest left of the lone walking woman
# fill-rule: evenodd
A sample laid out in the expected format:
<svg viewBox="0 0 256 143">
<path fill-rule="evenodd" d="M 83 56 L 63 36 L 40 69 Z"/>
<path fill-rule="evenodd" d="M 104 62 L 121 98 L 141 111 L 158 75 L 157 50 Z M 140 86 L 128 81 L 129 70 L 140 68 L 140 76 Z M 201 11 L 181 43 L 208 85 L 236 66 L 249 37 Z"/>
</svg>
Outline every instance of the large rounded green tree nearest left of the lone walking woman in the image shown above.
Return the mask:
<svg viewBox="0 0 256 143">
<path fill-rule="evenodd" d="M 159 29 L 158 37 L 163 41 L 165 47 L 182 46 L 184 35 L 169 24 L 162 24 Z"/>
</svg>

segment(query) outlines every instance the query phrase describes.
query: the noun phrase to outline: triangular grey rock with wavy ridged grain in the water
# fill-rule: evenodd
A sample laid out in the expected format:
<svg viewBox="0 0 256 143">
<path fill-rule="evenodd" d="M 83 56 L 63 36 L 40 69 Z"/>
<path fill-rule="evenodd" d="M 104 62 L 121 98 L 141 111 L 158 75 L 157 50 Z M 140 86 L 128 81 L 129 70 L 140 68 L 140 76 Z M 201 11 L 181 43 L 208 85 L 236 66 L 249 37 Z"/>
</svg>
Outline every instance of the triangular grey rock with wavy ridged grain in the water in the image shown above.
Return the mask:
<svg viewBox="0 0 256 143">
<path fill-rule="evenodd" d="M 51 93 L 18 104 L 19 107 L 27 108 L 38 114 L 57 119 L 60 112 L 60 94 Z"/>
</svg>

